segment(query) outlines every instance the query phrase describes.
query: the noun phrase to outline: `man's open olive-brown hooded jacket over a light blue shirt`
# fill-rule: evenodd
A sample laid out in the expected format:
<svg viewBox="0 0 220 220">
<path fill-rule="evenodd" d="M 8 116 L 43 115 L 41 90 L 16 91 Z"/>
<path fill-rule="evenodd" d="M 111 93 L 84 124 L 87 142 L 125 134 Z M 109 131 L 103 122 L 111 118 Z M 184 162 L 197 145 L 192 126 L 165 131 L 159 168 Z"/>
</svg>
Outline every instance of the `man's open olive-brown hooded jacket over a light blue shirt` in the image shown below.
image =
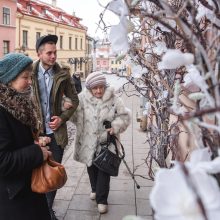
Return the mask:
<svg viewBox="0 0 220 220">
<path fill-rule="evenodd" d="M 39 85 L 38 85 L 38 66 L 39 66 L 39 60 L 34 63 L 34 74 L 32 78 L 32 87 L 33 87 L 33 94 L 36 101 L 36 105 L 38 106 L 39 111 L 39 120 L 41 123 L 41 132 L 44 132 L 44 123 L 43 123 L 43 114 L 41 110 L 41 104 L 40 104 L 40 91 L 39 91 Z M 69 120 L 69 118 L 72 116 L 72 114 L 75 112 L 78 104 L 79 99 L 77 96 L 77 92 L 74 87 L 73 80 L 71 79 L 71 76 L 68 72 L 68 69 L 65 67 L 61 67 L 57 63 L 53 67 L 54 70 L 54 77 L 53 77 L 53 86 L 51 89 L 51 116 L 56 115 L 59 116 L 62 119 L 61 126 L 54 131 L 54 136 L 56 139 L 56 142 L 61 147 L 65 147 L 68 144 L 68 135 L 67 135 L 67 125 L 66 121 Z M 70 98 L 73 104 L 73 107 L 69 110 L 62 111 L 62 98 L 63 95 Z"/>
</svg>

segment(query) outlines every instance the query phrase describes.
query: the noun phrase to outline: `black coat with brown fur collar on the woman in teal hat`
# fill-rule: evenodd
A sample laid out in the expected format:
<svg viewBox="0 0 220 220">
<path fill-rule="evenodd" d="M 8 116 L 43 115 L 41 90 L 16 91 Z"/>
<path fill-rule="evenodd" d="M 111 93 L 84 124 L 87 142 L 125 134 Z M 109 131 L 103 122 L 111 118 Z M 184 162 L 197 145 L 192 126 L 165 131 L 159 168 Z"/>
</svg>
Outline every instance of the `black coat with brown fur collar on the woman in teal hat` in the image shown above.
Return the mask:
<svg viewBox="0 0 220 220">
<path fill-rule="evenodd" d="M 31 108 L 5 88 L 0 84 L 0 219 L 49 220 L 45 194 L 31 191 L 32 170 L 43 163 L 29 125 L 35 124 Z"/>
</svg>

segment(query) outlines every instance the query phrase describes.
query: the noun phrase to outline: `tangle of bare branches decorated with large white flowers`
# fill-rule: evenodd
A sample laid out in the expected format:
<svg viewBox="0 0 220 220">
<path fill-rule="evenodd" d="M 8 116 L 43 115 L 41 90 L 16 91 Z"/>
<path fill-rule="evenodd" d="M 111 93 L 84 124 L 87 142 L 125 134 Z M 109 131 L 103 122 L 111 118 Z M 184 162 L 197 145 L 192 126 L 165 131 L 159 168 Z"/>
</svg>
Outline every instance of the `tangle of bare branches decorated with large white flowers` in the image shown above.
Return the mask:
<svg viewBox="0 0 220 220">
<path fill-rule="evenodd" d="M 219 0 L 113 0 L 103 8 L 100 28 L 119 59 L 126 56 L 129 83 L 146 100 L 155 218 L 219 219 Z M 106 10 L 117 25 L 105 23 Z"/>
</svg>

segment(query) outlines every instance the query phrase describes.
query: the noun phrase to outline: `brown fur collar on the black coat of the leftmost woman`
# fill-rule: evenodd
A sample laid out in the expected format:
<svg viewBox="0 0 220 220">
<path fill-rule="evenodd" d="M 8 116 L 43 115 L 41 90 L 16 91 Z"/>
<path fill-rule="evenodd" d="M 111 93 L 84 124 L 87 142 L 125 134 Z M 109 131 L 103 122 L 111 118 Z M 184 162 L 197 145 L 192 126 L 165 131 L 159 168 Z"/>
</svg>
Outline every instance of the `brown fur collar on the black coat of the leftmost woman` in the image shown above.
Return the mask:
<svg viewBox="0 0 220 220">
<path fill-rule="evenodd" d="M 18 93 L 4 84 L 0 84 L 0 106 L 21 123 L 38 129 L 37 114 L 31 100 L 31 91 Z"/>
</svg>

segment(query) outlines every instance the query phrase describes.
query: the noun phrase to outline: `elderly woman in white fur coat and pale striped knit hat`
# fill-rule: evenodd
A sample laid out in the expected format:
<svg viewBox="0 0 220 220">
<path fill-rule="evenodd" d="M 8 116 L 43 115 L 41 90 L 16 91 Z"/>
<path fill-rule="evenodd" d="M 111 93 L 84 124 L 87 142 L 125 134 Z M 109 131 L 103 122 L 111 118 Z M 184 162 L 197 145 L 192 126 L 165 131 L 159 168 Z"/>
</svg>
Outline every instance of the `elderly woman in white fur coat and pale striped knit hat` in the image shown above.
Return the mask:
<svg viewBox="0 0 220 220">
<path fill-rule="evenodd" d="M 119 137 L 126 130 L 130 123 L 130 111 L 115 95 L 114 89 L 107 86 L 103 73 L 89 74 L 85 86 L 79 94 L 79 106 L 72 117 L 76 124 L 74 159 L 87 165 L 90 199 L 96 200 L 100 213 L 106 213 L 110 176 L 95 167 L 92 161 L 101 150 L 100 144 L 107 141 L 108 132 Z M 105 121 L 111 123 L 111 128 L 105 128 Z"/>
</svg>

